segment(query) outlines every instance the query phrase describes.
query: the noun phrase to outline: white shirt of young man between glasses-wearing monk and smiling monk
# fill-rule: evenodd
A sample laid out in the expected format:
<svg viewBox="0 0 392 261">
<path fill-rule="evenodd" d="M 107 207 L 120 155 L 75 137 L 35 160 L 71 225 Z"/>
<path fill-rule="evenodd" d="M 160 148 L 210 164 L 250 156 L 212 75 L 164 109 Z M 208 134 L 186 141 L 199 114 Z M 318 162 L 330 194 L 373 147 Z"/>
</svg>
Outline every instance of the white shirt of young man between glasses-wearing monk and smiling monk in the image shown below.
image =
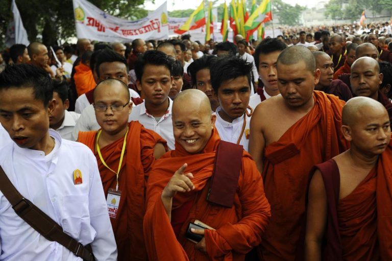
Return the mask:
<svg viewBox="0 0 392 261">
<path fill-rule="evenodd" d="M 129 115 L 129 122 L 138 121 L 144 128 L 155 131 L 167 141 L 167 147 L 169 147 L 170 150 L 173 150 L 174 134 L 173 123 L 171 122 L 171 106 L 173 105 L 173 101 L 171 101 L 170 98 L 167 99 L 169 99 L 169 108 L 158 122 L 153 115 L 147 112 L 144 103 L 141 103 L 132 109 L 132 112 Z"/>
</svg>

